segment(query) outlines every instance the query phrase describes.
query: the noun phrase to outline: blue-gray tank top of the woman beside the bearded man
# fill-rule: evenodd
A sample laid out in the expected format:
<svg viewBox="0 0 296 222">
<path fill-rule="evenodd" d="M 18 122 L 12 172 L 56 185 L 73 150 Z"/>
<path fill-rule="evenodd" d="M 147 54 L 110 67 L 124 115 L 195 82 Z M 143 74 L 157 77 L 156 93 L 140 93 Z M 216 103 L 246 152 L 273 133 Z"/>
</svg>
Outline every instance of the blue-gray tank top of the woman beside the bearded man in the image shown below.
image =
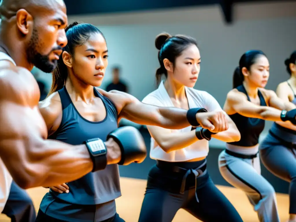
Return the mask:
<svg viewBox="0 0 296 222">
<path fill-rule="evenodd" d="M 95 96 L 102 99 L 106 117 L 99 122 L 83 118 L 76 110 L 66 88 L 59 90 L 62 102 L 62 121 L 57 131 L 49 136 L 68 144 L 79 145 L 92 138 L 106 141 L 107 135 L 118 127 L 115 105 L 94 88 Z M 98 110 L 99 112 L 99 110 Z M 75 161 L 75 158 L 73 158 Z M 120 197 L 118 165 L 107 165 L 104 170 L 88 173 L 82 178 L 69 182 L 69 193 L 52 192 L 55 197 L 72 204 L 95 205 Z"/>
</svg>

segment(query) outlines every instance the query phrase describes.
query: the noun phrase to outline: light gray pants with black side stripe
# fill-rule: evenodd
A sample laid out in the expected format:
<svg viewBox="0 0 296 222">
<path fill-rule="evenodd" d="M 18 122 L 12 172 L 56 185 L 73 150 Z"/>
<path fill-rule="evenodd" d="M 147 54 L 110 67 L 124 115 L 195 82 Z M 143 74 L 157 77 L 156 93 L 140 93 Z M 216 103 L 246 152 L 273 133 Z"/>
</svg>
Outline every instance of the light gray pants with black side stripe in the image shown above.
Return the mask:
<svg viewBox="0 0 296 222">
<path fill-rule="evenodd" d="M 229 150 L 233 152 L 235 150 L 244 155 L 253 155 L 258 152 L 258 146 L 243 148 L 226 145 Z M 242 159 L 229 155 L 223 150 L 219 155 L 218 165 L 223 178 L 247 194 L 261 222 L 280 221 L 274 188 L 261 176 L 259 155 L 253 159 Z"/>
</svg>

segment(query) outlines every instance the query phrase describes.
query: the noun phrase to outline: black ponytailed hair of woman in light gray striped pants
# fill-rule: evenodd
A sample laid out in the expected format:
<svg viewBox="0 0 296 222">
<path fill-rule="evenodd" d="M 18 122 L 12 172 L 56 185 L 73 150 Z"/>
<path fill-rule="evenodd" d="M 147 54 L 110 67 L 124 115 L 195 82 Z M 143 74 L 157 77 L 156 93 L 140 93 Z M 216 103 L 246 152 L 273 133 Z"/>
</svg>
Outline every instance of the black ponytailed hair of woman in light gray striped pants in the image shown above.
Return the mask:
<svg viewBox="0 0 296 222">
<path fill-rule="evenodd" d="M 232 79 L 232 88 L 237 88 L 238 86 L 242 85 L 244 81 L 244 75 L 242 74 L 242 68 L 246 67 L 247 70 L 250 71 L 250 68 L 253 64 L 255 64 L 256 59 L 259 55 L 266 56 L 262 51 L 260 50 L 250 50 L 245 52 L 242 57 L 239 59 L 239 66 L 236 67 L 233 73 L 233 79 Z"/>
</svg>

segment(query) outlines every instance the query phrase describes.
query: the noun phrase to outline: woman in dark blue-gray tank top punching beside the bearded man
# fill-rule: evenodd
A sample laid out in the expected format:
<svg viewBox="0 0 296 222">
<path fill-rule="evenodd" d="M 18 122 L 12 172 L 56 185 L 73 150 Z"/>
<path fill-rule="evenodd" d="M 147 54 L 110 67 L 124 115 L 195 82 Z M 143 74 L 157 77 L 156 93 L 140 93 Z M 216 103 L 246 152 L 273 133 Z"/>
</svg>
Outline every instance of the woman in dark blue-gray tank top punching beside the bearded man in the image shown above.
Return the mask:
<svg viewBox="0 0 296 222">
<path fill-rule="evenodd" d="M 177 129 L 200 123 L 217 132 L 225 130 L 227 123 L 218 123 L 214 119 L 216 113 L 200 112 L 206 110 L 157 107 L 141 103 L 124 92 L 96 88 L 101 85 L 108 66 L 108 49 L 102 32 L 94 25 L 77 22 L 65 30 L 68 44 L 53 72 L 50 94 L 39 104 L 48 138 L 73 145 L 88 142 L 90 149 L 99 152 L 97 156 L 102 154 L 105 144 L 114 150 L 119 144 L 122 155 L 118 157 L 114 150 L 108 149 L 109 155 L 119 159 L 115 162 L 118 164 L 106 166 L 98 160 L 95 165 L 103 166 L 102 170 L 50 187 L 41 201 L 36 221 L 123 221 L 115 206 L 115 199 L 121 196 L 118 165 L 141 163 L 147 150 L 133 127 L 118 129 L 120 118 Z M 92 146 L 93 138 L 105 142 Z"/>
</svg>

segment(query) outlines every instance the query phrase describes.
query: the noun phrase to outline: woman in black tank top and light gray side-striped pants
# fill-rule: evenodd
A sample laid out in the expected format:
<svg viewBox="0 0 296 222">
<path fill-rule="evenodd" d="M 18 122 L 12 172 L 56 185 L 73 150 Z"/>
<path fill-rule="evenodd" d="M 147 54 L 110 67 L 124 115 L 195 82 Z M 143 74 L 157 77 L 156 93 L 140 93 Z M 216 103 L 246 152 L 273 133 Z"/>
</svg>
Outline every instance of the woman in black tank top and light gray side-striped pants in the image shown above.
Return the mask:
<svg viewBox="0 0 296 222">
<path fill-rule="evenodd" d="M 223 178 L 243 190 L 261 222 L 277 222 L 276 195 L 271 184 L 261 176 L 258 139 L 265 120 L 296 124 L 295 105 L 279 99 L 264 87 L 269 78 L 269 62 L 262 51 L 245 52 L 234 71 L 233 89 L 227 94 L 224 111 L 234 121 L 241 139 L 227 142 L 219 155 Z"/>
</svg>

